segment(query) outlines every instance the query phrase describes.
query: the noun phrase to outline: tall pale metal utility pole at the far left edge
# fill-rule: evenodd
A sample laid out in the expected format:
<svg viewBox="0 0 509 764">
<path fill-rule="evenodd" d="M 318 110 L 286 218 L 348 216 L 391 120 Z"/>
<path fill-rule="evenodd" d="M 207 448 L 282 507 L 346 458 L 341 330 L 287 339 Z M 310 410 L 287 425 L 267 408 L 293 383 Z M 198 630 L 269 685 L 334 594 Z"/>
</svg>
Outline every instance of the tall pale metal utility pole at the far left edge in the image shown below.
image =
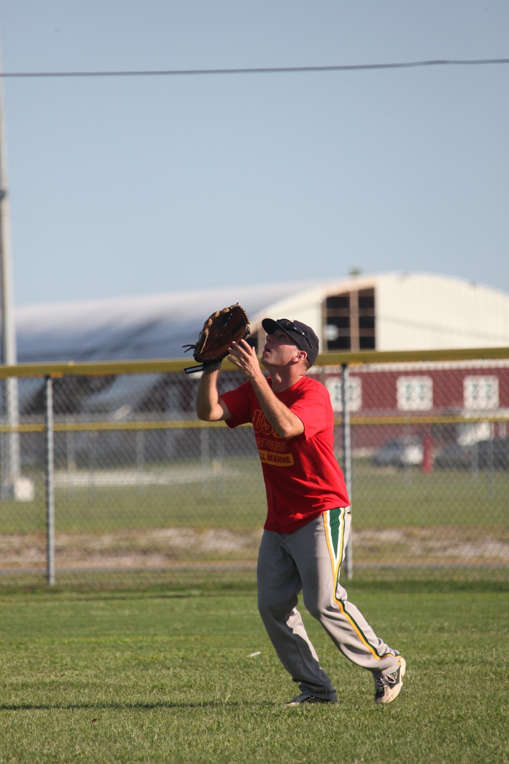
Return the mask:
<svg viewBox="0 0 509 764">
<path fill-rule="evenodd" d="M 0 50 L 0 72 L 2 51 Z M 5 141 L 5 115 L 3 80 L 0 77 L 0 294 L 2 315 L 2 364 L 18 362 L 16 329 L 13 318 L 11 210 L 8 197 L 7 144 Z M 20 475 L 18 380 L 4 380 L 5 421 L 11 431 L 7 438 L 5 472 L 2 471 L 2 494 L 16 498 L 16 484 Z"/>
</svg>

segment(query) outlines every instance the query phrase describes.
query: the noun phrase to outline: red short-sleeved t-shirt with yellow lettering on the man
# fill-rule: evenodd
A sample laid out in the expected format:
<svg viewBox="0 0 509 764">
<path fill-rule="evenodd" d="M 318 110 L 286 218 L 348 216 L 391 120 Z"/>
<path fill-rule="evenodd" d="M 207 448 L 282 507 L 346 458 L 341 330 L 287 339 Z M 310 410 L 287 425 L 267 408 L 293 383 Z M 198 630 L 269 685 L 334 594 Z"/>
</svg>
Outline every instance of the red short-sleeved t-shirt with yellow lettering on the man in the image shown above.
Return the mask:
<svg viewBox="0 0 509 764">
<path fill-rule="evenodd" d="M 232 417 L 226 420 L 228 427 L 253 423 L 267 493 L 264 527 L 291 533 L 326 510 L 348 507 L 350 501 L 334 456 L 334 417 L 327 387 L 302 377 L 275 397 L 301 419 L 301 435 L 285 439 L 275 434 L 250 382 L 221 394 Z"/>
</svg>

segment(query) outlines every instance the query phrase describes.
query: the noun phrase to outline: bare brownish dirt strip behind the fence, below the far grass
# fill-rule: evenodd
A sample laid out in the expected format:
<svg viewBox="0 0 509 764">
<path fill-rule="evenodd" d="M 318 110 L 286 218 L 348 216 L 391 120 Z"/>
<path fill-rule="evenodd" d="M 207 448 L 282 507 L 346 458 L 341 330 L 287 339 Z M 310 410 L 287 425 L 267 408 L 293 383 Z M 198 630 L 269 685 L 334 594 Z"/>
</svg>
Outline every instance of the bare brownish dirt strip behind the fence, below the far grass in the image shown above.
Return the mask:
<svg viewBox="0 0 509 764">
<path fill-rule="evenodd" d="M 154 528 L 56 533 L 56 568 L 159 568 L 256 561 L 262 529 Z M 0 569 L 44 568 L 42 533 L 0 535 Z M 509 564 L 509 530 L 451 526 L 359 529 L 354 565 Z"/>
</svg>

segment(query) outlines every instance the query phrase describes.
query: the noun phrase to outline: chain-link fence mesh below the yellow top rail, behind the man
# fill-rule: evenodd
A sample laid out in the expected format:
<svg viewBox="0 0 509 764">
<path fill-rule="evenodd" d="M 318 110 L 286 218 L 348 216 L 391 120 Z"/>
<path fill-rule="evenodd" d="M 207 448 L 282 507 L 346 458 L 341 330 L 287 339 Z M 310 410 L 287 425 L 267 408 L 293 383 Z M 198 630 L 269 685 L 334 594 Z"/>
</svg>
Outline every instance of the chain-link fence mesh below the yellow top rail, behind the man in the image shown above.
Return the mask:
<svg viewBox="0 0 509 764">
<path fill-rule="evenodd" d="M 0 584 L 254 581 L 266 500 L 252 428 L 199 422 L 195 375 L 137 366 L 3 380 Z M 347 575 L 507 581 L 509 360 L 311 372 L 352 498 Z M 241 381 L 220 375 L 223 390 Z"/>
</svg>

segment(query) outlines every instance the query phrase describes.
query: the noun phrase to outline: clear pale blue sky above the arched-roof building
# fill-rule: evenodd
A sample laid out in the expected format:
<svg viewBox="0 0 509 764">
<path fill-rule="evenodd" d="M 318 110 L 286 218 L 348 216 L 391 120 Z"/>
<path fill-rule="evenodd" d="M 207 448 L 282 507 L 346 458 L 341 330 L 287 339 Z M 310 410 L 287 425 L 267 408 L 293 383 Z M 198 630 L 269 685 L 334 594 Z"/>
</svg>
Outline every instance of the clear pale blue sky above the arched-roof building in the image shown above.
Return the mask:
<svg viewBox="0 0 509 764">
<path fill-rule="evenodd" d="M 0 0 L 5 73 L 509 58 L 507 0 Z M 426 271 L 509 292 L 509 65 L 5 79 L 17 304 Z"/>
</svg>

